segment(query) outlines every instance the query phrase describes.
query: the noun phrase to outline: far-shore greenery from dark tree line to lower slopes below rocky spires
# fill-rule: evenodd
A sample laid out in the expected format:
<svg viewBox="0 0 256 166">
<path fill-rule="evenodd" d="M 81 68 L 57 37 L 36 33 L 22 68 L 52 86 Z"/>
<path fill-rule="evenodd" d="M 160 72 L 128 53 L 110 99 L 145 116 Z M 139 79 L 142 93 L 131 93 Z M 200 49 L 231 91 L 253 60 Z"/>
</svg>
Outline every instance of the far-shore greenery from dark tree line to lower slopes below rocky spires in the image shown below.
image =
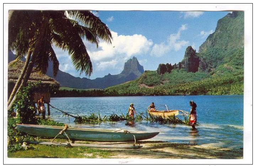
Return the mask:
<svg viewBox="0 0 256 166">
<path fill-rule="evenodd" d="M 146 71 L 136 80 L 104 90 L 59 90 L 51 96 L 240 95 L 244 91 L 243 81 L 243 69 L 225 64 L 209 74 L 186 72 L 184 69 L 172 69 L 171 73 L 162 75 Z"/>
</svg>

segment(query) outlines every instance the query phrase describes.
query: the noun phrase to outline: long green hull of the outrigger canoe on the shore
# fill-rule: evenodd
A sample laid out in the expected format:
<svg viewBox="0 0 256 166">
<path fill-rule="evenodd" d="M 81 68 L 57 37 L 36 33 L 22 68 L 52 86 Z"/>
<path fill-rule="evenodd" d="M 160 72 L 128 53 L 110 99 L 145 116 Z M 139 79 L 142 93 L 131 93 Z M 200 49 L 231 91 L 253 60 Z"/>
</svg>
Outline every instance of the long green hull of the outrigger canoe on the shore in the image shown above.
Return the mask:
<svg viewBox="0 0 256 166">
<path fill-rule="evenodd" d="M 64 127 L 18 124 L 17 129 L 29 135 L 41 136 L 45 138 L 55 138 Z M 79 127 L 68 127 L 65 133 L 71 140 L 87 140 L 87 141 L 110 141 L 110 142 L 130 142 L 136 140 L 145 140 L 153 138 L 159 132 L 128 132 L 127 130 L 107 130 L 107 129 L 90 129 Z M 65 138 L 59 134 L 57 138 Z"/>
</svg>

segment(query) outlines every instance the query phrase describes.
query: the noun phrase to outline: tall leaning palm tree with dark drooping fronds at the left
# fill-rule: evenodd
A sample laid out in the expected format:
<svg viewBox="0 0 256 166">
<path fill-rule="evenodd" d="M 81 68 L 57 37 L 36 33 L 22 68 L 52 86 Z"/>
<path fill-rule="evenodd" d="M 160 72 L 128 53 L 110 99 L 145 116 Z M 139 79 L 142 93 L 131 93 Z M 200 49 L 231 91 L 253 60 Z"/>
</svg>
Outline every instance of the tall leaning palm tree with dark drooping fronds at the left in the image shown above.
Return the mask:
<svg viewBox="0 0 256 166">
<path fill-rule="evenodd" d="M 105 23 L 90 11 L 22 11 L 9 12 L 9 50 L 16 59 L 26 55 L 26 61 L 8 100 L 10 109 L 16 94 L 26 85 L 32 68 L 46 73 L 48 61 L 53 62 L 57 75 L 59 61 L 53 47 L 67 50 L 76 70 L 91 75 L 92 63 L 82 39 L 95 43 L 99 38 L 111 43 L 111 32 Z"/>
</svg>

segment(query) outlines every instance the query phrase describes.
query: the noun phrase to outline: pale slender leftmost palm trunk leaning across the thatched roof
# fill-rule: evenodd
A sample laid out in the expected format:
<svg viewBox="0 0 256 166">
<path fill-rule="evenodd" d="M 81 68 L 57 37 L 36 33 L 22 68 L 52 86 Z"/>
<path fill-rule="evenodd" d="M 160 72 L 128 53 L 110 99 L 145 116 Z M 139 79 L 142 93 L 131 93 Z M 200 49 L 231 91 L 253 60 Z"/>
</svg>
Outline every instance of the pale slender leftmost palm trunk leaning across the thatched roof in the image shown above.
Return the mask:
<svg viewBox="0 0 256 166">
<path fill-rule="evenodd" d="M 25 72 L 26 72 L 26 70 L 27 70 L 28 63 L 29 63 L 29 61 L 30 61 L 30 57 L 31 57 L 31 50 L 29 49 L 29 50 L 28 50 L 28 53 L 27 53 L 27 58 L 26 58 L 25 64 L 24 64 L 23 69 L 22 69 L 22 71 L 21 71 L 21 74 L 20 74 L 20 76 L 18 77 L 18 80 L 17 80 L 17 82 L 16 82 L 16 84 L 15 84 L 15 86 L 14 86 L 14 89 L 12 90 L 12 93 L 11 93 L 9 99 L 8 99 L 7 106 L 10 105 L 12 99 L 14 98 L 14 96 L 15 96 L 17 90 L 18 90 L 18 87 L 20 87 L 21 81 L 22 81 L 22 79 L 23 79 L 23 77 L 24 77 L 24 75 L 25 75 Z"/>
</svg>

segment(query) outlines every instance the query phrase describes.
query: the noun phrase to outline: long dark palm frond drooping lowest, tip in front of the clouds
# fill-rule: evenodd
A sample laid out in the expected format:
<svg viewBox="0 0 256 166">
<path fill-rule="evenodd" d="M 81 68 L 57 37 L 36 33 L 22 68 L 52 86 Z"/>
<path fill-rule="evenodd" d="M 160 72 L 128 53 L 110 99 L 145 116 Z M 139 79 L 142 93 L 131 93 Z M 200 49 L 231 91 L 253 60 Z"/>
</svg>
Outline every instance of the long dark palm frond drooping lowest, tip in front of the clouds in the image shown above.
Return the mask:
<svg viewBox="0 0 256 166">
<path fill-rule="evenodd" d="M 52 44 L 56 47 L 68 50 L 71 60 L 76 70 L 80 70 L 81 73 L 91 75 L 92 63 L 87 53 L 86 47 L 79 35 L 79 32 L 74 28 L 70 20 L 62 13 L 53 12 L 50 15 L 49 23 L 52 32 L 57 35 L 53 35 Z"/>
</svg>

